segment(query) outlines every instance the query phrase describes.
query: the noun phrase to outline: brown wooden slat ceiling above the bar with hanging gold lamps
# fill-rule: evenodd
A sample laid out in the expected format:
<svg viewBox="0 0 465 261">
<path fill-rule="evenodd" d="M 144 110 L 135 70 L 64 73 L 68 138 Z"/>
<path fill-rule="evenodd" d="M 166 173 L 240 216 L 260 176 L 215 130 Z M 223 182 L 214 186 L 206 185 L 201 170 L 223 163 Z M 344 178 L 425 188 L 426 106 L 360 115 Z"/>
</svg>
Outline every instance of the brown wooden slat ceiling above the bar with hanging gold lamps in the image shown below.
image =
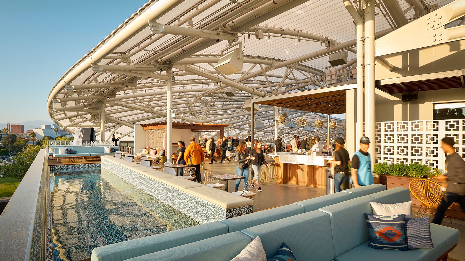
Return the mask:
<svg viewBox="0 0 465 261">
<path fill-rule="evenodd" d="M 323 114 L 339 114 L 345 113 L 345 90 L 309 94 L 293 98 L 281 98 L 258 102 L 257 104 Z"/>
</svg>

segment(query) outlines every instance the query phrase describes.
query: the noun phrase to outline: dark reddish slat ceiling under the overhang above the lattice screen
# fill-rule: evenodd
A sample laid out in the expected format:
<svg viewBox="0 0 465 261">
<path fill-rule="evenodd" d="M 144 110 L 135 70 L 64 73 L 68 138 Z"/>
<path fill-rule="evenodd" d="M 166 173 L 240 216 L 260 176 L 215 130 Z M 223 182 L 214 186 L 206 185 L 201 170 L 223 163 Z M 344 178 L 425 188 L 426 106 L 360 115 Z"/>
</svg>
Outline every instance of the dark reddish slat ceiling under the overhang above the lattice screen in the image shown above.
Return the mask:
<svg viewBox="0 0 465 261">
<path fill-rule="evenodd" d="M 404 85 L 406 88 L 404 88 L 404 86 L 402 85 Z M 403 93 L 403 92 L 409 92 L 409 91 L 432 91 L 432 90 L 443 90 L 443 89 L 463 87 L 460 76 L 423 80 L 423 81 L 405 82 L 405 83 L 402 83 L 402 85 L 398 83 L 388 84 L 388 85 L 377 85 L 376 88 L 378 88 L 379 90 L 385 91 L 389 94 L 394 94 L 394 93 Z"/>
</svg>

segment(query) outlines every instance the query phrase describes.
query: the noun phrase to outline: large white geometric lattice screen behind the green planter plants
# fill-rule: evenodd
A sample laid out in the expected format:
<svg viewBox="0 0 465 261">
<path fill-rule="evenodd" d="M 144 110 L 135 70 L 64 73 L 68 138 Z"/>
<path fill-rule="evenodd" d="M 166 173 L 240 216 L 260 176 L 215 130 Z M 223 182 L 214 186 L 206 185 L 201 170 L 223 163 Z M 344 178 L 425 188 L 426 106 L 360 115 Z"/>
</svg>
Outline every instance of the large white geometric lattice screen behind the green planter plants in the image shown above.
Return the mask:
<svg viewBox="0 0 465 261">
<path fill-rule="evenodd" d="M 377 122 L 376 159 L 444 170 L 443 137 L 453 137 L 455 150 L 465 158 L 465 119 Z"/>
</svg>

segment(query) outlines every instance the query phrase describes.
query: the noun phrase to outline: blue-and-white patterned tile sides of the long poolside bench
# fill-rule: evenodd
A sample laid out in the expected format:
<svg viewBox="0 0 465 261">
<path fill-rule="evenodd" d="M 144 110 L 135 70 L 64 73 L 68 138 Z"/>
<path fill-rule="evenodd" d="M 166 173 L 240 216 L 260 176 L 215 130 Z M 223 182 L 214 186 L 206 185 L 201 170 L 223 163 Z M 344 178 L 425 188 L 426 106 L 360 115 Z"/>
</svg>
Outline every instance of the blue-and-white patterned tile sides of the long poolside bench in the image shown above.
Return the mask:
<svg viewBox="0 0 465 261">
<path fill-rule="evenodd" d="M 102 158 L 101 165 L 102 168 L 120 176 L 128 183 L 144 190 L 201 224 L 252 213 L 252 205 L 226 210 L 133 170 L 116 165 L 104 158 Z"/>
</svg>

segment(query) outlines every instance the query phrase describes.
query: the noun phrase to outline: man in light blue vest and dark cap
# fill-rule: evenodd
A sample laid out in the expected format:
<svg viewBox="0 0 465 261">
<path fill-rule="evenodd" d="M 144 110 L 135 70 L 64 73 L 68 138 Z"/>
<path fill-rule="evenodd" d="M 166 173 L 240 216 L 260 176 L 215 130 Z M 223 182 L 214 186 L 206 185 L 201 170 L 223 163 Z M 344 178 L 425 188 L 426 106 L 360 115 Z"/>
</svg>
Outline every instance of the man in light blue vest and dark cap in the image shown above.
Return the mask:
<svg viewBox="0 0 465 261">
<path fill-rule="evenodd" d="M 355 188 L 373 184 L 372 162 L 368 148 L 370 139 L 366 136 L 360 139 L 360 150 L 352 157 L 352 176 L 350 183 Z"/>
</svg>

